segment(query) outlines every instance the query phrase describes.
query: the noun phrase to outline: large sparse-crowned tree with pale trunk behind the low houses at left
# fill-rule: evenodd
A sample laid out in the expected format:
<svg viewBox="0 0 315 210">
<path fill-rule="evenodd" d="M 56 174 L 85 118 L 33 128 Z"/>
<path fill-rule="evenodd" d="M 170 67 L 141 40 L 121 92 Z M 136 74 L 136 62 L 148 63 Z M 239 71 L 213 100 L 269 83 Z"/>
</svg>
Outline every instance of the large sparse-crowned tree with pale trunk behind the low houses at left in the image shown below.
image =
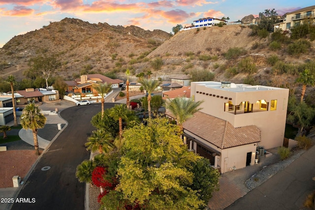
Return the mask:
<svg viewBox="0 0 315 210">
<path fill-rule="evenodd" d="M 48 79 L 53 76 L 55 71 L 59 69 L 62 64 L 56 55 L 53 56 L 37 56 L 29 60 L 28 65 L 30 68 L 27 70 L 26 75 L 42 77 L 46 81 L 46 88 L 48 89 Z"/>
</svg>

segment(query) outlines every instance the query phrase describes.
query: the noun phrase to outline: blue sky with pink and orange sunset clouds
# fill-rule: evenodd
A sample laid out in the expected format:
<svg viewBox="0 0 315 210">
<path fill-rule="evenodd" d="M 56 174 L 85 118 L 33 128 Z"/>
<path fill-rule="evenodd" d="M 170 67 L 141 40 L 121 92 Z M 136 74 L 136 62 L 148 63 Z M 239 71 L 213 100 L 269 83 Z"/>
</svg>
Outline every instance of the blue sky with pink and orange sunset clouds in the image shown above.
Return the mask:
<svg viewBox="0 0 315 210">
<path fill-rule="evenodd" d="M 0 48 L 16 35 L 64 18 L 172 32 L 177 24 L 204 17 L 238 21 L 265 9 L 283 15 L 312 5 L 314 0 L 0 0 Z"/>
</svg>

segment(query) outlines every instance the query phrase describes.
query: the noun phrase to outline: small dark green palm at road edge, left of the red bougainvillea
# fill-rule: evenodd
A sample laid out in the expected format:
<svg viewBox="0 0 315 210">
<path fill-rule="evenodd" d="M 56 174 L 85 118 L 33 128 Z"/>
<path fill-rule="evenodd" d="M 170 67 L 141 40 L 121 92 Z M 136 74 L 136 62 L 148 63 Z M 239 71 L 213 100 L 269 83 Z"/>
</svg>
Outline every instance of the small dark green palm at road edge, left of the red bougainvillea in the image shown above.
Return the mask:
<svg viewBox="0 0 315 210">
<path fill-rule="evenodd" d="M 95 168 L 95 164 L 92 160 L 84 160 L 80 165 L 77 166 L 75 177 L 80 182 L 92 182 L 92 172 Z"/>
</svg>

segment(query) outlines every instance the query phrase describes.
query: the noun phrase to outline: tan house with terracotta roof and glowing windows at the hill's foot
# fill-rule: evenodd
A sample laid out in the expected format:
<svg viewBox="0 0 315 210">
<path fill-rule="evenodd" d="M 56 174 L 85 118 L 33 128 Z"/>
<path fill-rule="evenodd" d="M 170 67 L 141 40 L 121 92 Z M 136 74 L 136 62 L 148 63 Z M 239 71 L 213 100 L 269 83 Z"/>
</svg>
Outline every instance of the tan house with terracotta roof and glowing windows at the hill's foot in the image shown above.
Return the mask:
<svg viewBox="0 0 315 210">
<path fill-rule="evenodd" d="M 93 85 L 96 83 L 107 83 L 111 84 L 112 88 L 119 88 L 123 86 L 124 81 L 119 79 L 114 80 L 102 74 L 85 74 L 81 75 L 75 81 L 65 81 L 65 83 L 68 85 L 67 91 L 93 93 Z"/>
</svg>

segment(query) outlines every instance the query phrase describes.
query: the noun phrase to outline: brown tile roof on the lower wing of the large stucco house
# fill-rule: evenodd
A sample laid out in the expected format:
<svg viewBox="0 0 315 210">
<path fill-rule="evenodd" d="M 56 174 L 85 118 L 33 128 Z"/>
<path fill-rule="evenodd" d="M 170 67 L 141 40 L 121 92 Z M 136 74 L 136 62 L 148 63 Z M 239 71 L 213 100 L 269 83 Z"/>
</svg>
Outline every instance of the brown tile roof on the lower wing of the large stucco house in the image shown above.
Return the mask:
<svg viewBox="0 0 315 210">
<path fill-rule="evenodd" d="M 184 132 L 188 130 L 221 149 L 260 142 L 260 130 L 255 125 L 234 128 L 228 121 L 202 112 L 195 113 L 183 126 Z"/>
</svg>

